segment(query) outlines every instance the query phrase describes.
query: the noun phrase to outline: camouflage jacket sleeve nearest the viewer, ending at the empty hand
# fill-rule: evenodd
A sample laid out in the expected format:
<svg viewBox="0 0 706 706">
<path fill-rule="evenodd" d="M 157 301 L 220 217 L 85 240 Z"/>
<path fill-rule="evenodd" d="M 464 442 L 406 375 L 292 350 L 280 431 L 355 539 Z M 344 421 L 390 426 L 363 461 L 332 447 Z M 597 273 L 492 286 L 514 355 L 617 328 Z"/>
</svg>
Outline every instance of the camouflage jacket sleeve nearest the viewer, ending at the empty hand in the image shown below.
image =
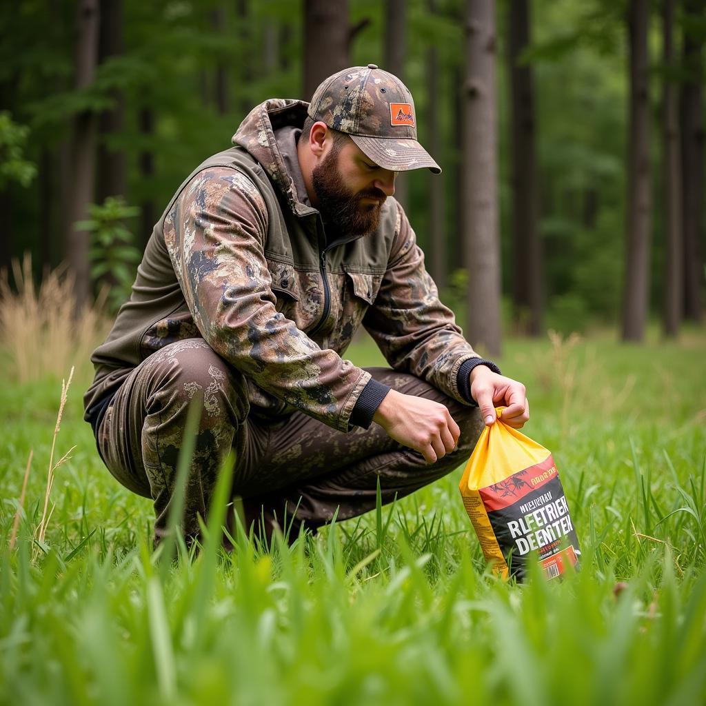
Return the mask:
<svg viewBox="0 0 706 706">
<path fill-rule="evenodd" d="M 280 400 L 340 431 L 370 373 L 323 350 L 276 309 L 265 260 L 268 213 L 228 167 L 196 174 L 164 218 L 164 242 L 208 345 Z"/>
</svg>

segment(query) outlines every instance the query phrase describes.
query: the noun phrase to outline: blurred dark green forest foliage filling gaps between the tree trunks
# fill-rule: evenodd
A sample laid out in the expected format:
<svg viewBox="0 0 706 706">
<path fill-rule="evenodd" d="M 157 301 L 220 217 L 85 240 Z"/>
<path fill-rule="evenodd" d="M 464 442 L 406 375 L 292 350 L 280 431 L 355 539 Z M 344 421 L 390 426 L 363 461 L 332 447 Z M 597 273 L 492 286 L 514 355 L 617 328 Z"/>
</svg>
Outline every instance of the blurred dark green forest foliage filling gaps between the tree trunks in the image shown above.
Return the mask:
<svg viewBox="0 0 706 706">
<path fill-rule="evenodd" d="M 510 78 L 503 59 L 508 56 L 510 1 L 496 4 L 498 193 L 506 297 L 513 291 Z M 434 156 L 444 169 L 438 178 L 443 184 L 446 261 L 436 272 L 446 280 L 445 273 L 460 261 L 462 195 L 457 182 L 463 154 L 458 126 L 465 4 L 409 0 L 404 5 L 404 76 L 417 107 L 419 137 L 426 145 L 433 141 L 427 119 L 431 100 L 440 133 L 440 153 Z M 520 61 L 532 68 L 534 77 L 544 323 L 565 329 L 581 328 L 594 318 L 616 323 L 626 258 L 628 2 L 532 0 L 531 6 L 531 40 Z M 104 0 L 99 64 L 93 80 L 80 88 L 77 9 L 76 0 L 22 0 L 0 8 L 0 267 L 27 250 L 37 273 L 43 265 L 66 259 L 66 233 L 73 227 L 68 203 L 76 116 L 101 119 L 96 180 L 103 186 L 98 184 L 97 200 L 123 196 L 140 209 L 141 217 L 125 225 L 142 246 L 184 177 L 203 158 L 229 145 L 251 107 L 269 97 L 310 97 L 304 95 L 304 0 Z M 351 64 L 374 62 L 387 68 L 385 4 L 349 0 L 348 12 Z M 661 82 L 681 86 L 688 71 L 703 76 L 704 61 L 703 52 L 697 52 L 690 66 L 662 71 L 659 18 L 655 3 L 648 36 L 655 124 L 662 119 Z M 675 28 L 678 56 L 686 34 L 702 47 L 706 20 L 689 3 L 677 4 Z M 433 93 L 430 50 L 436 71 Z M 703 140 L 702 102 L 700 111 Z M 651 140 L 658 186 L 659 129 L 652 131 Z M 119 176 L 121 167 L 109 162 L 116 154 L 123 160 L 124 177 Z M 116 178 L 107 178 L 106 169 L 108 177 Z M 429 205 L 433 178 L 418 171 L 407 179 L 407 210 L 427 253 L 433 250 L 430 232 L 438 232 L 431 224 L 431 213 L 438 209 Z M 105 184 L 112 186 L 106 189 Z M 653 312 L 662 299 L 661 193 L 654 190 Z M 695 228 L 703 280 L 706 199 L 703 191 L 700 196 Z M 439 284 L 450 286 L 453 280 Z M 700 287 L 702 297 L 702 281 Z"/>
</svg>

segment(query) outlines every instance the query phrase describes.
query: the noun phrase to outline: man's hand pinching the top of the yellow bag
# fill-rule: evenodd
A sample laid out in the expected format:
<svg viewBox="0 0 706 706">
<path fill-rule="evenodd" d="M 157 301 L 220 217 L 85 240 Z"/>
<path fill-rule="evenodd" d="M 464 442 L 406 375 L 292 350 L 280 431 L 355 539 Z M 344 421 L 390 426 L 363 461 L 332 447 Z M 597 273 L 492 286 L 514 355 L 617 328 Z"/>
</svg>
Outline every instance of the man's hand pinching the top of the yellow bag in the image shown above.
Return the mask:
<svg viewBox="0 0 706 706">
<path fill-rule="evenodd" d="M 487 426 L 495 422 L 496 406 L 504 406 L 503 421 L 520 429 L 530 419 L 530 402 L 525 385 L 498 375 L 485 365 L 477 365 L 470 374 L 471 396 L 478 403 Z"/>
</svg>

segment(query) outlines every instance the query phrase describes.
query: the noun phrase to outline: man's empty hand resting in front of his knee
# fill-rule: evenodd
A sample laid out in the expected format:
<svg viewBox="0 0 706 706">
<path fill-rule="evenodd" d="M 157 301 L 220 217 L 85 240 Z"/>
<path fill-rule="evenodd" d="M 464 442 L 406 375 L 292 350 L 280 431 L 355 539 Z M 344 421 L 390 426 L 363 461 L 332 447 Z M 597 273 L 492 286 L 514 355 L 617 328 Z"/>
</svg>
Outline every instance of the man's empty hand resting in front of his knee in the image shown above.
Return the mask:
<svg viewBox="0 0 706 706">
<path fill-rule="evenodd" d="M 427 463 L 456 447 L 461 430 L 451 413 L 433 400 L 390 390 L 373 415 L 373 421 L 403 446 L 419 451 Z"/>
</svg>

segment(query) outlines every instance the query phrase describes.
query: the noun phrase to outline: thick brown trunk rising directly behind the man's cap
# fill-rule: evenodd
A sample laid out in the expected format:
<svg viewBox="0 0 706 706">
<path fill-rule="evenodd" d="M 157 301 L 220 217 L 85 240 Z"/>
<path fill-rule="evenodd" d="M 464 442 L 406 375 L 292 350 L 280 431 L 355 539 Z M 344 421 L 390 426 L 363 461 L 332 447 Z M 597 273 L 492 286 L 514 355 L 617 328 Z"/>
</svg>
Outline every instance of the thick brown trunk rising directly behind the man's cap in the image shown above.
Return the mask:
<svg viewBox="0 0 706 706">
<path fill-rule="evenodd" d="M 349 66 L 348 0 L 304 0 L 304 98 L 319 83 Z"/>
</svg>

